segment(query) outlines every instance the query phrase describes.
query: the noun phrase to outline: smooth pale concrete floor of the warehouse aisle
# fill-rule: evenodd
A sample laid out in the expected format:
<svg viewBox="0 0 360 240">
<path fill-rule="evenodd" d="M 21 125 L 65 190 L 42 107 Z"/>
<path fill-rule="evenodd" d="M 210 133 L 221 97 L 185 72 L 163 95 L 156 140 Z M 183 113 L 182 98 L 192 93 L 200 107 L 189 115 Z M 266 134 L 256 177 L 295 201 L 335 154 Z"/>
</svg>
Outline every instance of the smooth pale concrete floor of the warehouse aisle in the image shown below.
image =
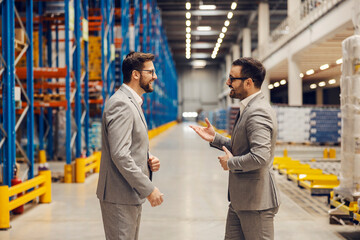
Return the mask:
<svg viewBox="0 0 360 240">
<path fill-rule="evenodd" d="M 164 203 L 143 206 L 142 240 L 219 240 L 224 237 L 227 213 L 227 172 L 220 167 L 221 152 L 202 141 L 187 123 L 151 141 L 151 152 L 161 160 L 155 185 Z M 84 184 L 53 183 L 51 204 L 28 204 L 13 216 L 12 228 L 0 231 L 1 240 L 105 239 L 98 200 L 97 174 Z M 328 224 L 325 198 L 311 197 L 284 176 L 277 176 L 282 205 L 275 217 L 275 239 L 360 239 L 359 226 Z"/>
</svg>

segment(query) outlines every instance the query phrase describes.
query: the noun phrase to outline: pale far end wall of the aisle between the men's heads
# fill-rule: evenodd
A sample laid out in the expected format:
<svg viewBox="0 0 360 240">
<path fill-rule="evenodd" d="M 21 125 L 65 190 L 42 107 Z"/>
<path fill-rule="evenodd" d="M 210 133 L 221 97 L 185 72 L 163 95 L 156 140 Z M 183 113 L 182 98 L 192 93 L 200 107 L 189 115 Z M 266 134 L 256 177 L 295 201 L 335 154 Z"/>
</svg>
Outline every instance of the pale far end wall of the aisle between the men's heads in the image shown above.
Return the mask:
<svg viewBox="0 0 360 240">
<path fill-rule="evenodd" d="M 179 115 L 199 109 L 213 110 L 218 107 L 219 69 L 215 66 L 203 69 L 184 67 L 178 69 Z"/>
</svg>

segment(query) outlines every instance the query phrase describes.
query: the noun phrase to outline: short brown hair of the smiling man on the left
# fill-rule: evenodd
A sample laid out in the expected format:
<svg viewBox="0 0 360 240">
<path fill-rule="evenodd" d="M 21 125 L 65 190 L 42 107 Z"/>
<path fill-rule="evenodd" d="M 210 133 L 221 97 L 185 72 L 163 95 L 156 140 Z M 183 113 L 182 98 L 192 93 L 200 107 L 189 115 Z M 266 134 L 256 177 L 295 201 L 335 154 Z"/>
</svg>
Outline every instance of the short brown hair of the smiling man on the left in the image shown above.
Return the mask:
<svg viewBox="0 0 360 240">
<path fill-rule="evenodd" d="M 142 70 L 145 62 L 153 61 L 154 59 L 155 56 L 151 53 L 130 52 L 126 55 L 122 64 L 124 83 L 130 82 L 131 74 L 134 70 Z"/>
</svg>

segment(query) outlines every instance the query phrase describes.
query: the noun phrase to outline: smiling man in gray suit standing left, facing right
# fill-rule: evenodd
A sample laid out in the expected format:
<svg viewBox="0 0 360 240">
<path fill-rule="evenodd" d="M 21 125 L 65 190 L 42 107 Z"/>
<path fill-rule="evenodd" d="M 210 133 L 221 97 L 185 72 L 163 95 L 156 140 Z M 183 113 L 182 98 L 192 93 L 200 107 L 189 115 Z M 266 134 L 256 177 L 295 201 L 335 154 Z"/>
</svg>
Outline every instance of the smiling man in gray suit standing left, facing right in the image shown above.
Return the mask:
<svg viewBox="0 0 360 240">
<path fill-rule="evenodd" d="M 138 239 L 145 199 L 152 207 L 163 194 L 151 182 L 160 161 L 149 152 L 141 96 L 154 90 L 154 55 L 132 52 L 123 61 L 124 84 L 105 103 L 97 196 L 106 239 Z"/>
</svg>

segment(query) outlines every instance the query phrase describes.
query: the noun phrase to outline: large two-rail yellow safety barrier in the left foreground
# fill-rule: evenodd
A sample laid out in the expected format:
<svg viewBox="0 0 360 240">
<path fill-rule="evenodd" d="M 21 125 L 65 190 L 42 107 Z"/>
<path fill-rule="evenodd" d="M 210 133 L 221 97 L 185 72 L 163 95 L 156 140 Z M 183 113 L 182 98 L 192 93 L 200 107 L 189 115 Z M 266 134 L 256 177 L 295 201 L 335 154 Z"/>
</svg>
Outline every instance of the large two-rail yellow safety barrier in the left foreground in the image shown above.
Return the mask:
<svg viewBox="0 0 360 240">
<path fill-rule="evenodd" d="M 28 190 L 33 189 L 29 192 Z M 23 193 L 9 201 L 9 198 Z M 0 229 L 10 228 L 10 211 L 39 197 L 40 203 L 51 202 L 51 171 L 40 171 L 37 177 L 13 187 L 0 186 Z"/>
</svg>

